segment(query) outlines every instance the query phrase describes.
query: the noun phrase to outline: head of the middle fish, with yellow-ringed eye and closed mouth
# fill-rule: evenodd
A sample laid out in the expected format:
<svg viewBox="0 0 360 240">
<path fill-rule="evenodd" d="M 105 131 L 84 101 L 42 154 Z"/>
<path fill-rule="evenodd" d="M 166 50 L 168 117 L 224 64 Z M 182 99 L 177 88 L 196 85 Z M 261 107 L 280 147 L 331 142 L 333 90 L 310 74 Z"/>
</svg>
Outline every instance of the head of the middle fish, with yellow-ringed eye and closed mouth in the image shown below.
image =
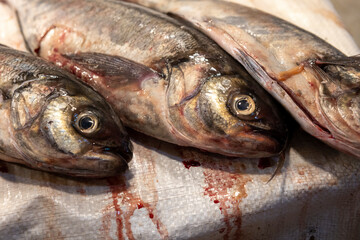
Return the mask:
<svg viewBox="0 0 360 240">
<path fill-rule="evenodd" d="M 279 107 L 250 77 L 214 76 L 184 109 L 208 148 L 239 157 L 278 155 L 288 137 Z M 198 134 L 197 139 L 201 139 Z"/>
</svg>

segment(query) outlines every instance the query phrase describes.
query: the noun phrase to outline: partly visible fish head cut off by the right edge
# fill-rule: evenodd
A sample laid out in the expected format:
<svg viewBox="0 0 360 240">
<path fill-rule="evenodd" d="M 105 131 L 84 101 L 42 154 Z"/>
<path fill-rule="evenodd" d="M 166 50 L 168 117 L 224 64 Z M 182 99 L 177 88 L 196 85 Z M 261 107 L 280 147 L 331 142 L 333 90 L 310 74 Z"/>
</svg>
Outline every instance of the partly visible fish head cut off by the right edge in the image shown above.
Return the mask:
<svg viewBox="0 0 360 240">
<path fill-rule="evenodd" d="M 352 58 L 349 58 L 350 60 Z M 357 60 L 358 61 L 358 60 Z M 349 147 L 359 148 L 360 71 L 359 67 L 329 65 L 316 68 L 320 79 L 319 102 L 332 136 Z"/>
</svg>

